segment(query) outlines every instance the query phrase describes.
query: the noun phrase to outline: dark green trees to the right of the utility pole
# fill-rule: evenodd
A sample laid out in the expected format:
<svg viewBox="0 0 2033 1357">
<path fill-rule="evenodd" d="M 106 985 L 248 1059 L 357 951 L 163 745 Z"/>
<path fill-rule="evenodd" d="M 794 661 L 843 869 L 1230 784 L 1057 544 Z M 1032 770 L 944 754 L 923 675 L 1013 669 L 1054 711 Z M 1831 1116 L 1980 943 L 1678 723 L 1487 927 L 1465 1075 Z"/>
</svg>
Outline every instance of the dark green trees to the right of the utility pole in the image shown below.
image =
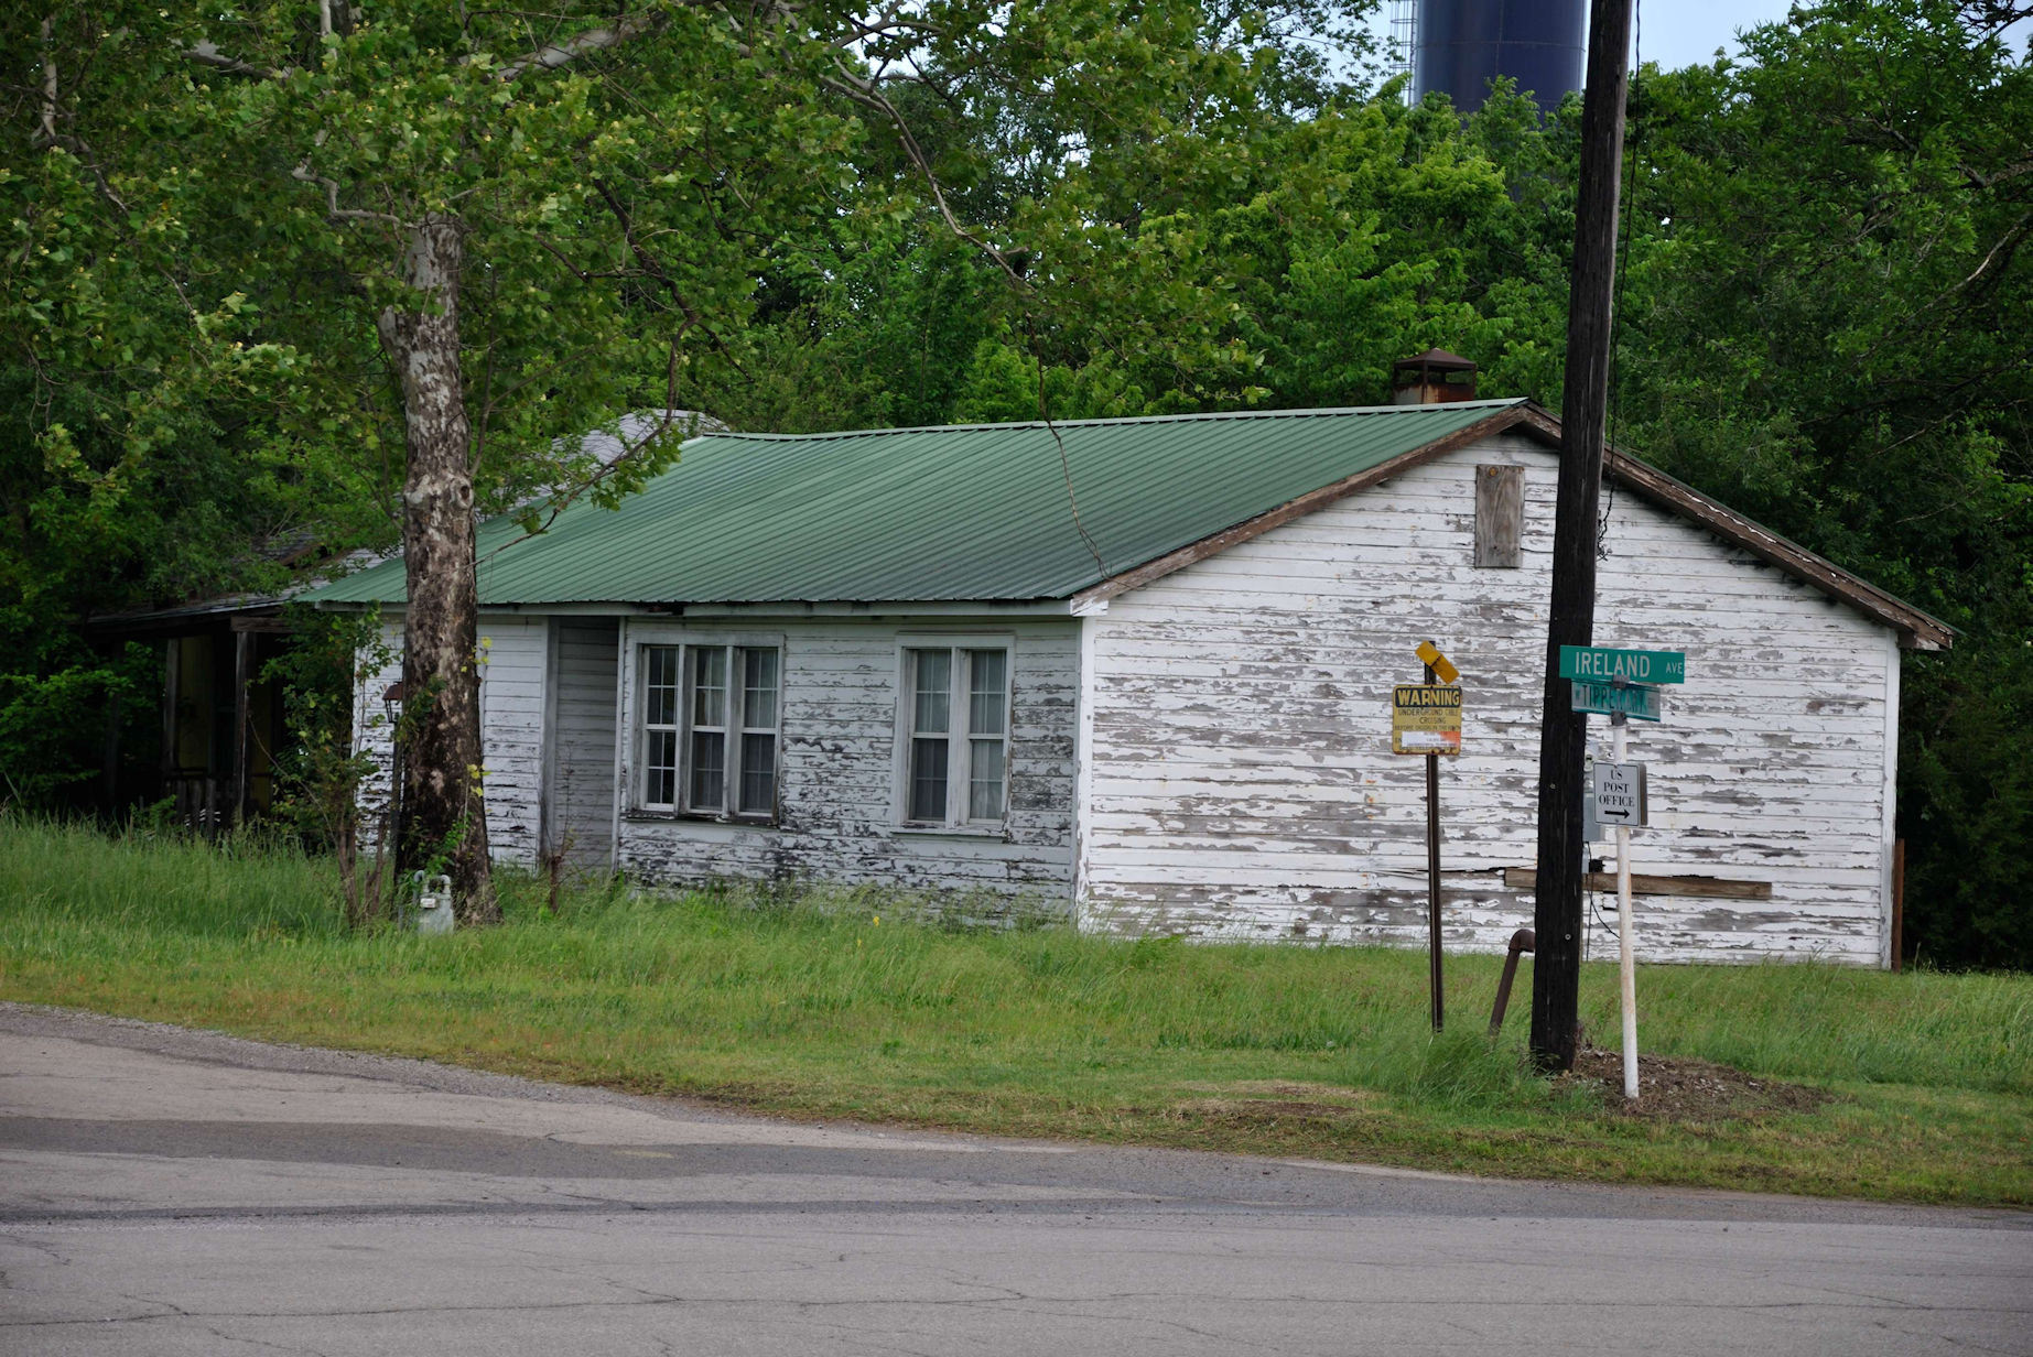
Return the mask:
<svg viewBox="0 0 2033 1357">
<path fill-rule="evenodd" d="M 1618 374 L 1632 447 L 1962 630 L 1905 664 L 1907 939 L 2033 967 L 2033 69 L 1992 18 L 1834 0 L 1649 73 Z"/>
</svg>

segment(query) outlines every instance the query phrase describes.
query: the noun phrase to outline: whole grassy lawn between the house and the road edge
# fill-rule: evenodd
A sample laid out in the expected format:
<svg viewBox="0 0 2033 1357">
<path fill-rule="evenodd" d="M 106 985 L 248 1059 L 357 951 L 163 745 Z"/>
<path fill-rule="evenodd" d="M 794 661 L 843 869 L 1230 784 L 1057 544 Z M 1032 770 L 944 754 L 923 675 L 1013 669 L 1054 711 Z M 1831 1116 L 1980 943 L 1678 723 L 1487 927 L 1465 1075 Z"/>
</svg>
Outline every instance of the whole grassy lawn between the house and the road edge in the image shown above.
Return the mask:
<svg viewBox="0 0 2033 1357">
<path fill-rule="evenodd" d="M 291 851 L 0 819 L 0 997 L 425 1056 L 799 1117 L 1246 1150 L 1502 1176 L 2033 1203 L 2033 977 L 1643 967 L 1647 1052 L 1834 1097 L 1626 1117 L 1525 1073 L 1496 957 L 943 928 L 907 900 L 569 892 L 417 939 L 337 926 Z M 1614 1040 L 1616 971 L 1582 981 Z"/>
</svg>

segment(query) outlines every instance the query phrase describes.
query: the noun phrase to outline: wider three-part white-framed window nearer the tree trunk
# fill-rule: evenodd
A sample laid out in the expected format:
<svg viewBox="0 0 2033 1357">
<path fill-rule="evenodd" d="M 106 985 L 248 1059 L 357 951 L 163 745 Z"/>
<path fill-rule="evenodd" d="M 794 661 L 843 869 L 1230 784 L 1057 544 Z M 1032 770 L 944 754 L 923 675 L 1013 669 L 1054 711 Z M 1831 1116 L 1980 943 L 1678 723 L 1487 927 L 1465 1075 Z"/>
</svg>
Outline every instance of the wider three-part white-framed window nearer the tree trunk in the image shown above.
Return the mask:
<svg viewBox="0 0 2033 1357">
<path fill-rule="evenodd" d="M 777 815 L 777 646 L 642 646 L 642 811 L 766 821 Z"/>
</svg>

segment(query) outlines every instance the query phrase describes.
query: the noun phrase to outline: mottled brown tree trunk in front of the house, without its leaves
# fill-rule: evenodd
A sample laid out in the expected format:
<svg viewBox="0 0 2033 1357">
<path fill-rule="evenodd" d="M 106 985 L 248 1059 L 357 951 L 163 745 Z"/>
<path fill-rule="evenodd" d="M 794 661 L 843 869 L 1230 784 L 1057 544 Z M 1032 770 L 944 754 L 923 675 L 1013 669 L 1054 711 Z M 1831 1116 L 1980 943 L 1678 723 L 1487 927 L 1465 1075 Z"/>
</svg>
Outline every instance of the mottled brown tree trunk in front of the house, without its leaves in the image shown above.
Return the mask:
<svg viewBox="0 0 2033 1357">
<path fill-rule="evenodd" d="M 417 311 L 380 315 L 382 347 L 403 378 L 409 469 L 403 479 L 403 800 L 394 825 L 396 880 L 451 878 L 468 924 L 500 920 L 488 874 L 480 794 L 480 587 L 474 559 L 474 477 L 459 384 L 459 221 L 431 215 L 411 230 L 405 280 Z"/>
</svg>

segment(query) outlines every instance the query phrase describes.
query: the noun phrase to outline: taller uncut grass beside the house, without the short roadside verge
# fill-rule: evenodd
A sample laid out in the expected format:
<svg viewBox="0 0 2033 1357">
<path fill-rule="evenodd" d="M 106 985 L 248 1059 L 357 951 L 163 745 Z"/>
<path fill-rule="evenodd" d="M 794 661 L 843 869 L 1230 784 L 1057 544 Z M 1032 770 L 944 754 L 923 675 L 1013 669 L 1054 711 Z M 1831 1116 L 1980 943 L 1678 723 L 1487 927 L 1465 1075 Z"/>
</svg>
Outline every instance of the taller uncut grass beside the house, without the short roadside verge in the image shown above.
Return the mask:
<svg viewBox="0 0 2033 1357">
<path fill-rule="evenodd" d="M 1480 1030 L 1494 957 L 1447 959 L 1454 1028 L 1433 1040 L 1419 953 L 1122 941 L 1067 924 L 951 926 L 925 898 L 811 890 L 655 896 L 586 886 L 555 916 L 504 874 L 508 924 L 451 939 L 340 926 L 329 865 L 283 843 L 209 847 L 87 827 L 0 821 L 0 975 L 144 975 L 169 993 L 203 973 L 252 1014 L 344 989 L 364 1030 L 390 1014 L 488 1014 L 543 1040 L 590 1032 L 683 1085 L 720 1056 L 748 1069 L 874 1058 L 976 1087 L 1212 1060 L 1303 1058 L 1311 1079 L 1431 1105 L 1551 1097 Z M 1525 977 L 1521 977 L 1523 981 Z M 270 1004 L 260 995 L 270 995 Z M 1584 975 L 1584 1018 L 1616 1032 L 1608 965 Z M 1647 1050 L 1822 1083 L 2033 1093 L 2033 977 L 1881 975 L 1822 965 L 1643 967 Z M 795 1058 L 793 1058 L 795 1056 Z M 736 1060 L 738 1058 L 738 1060 Z"/>
</svg>

